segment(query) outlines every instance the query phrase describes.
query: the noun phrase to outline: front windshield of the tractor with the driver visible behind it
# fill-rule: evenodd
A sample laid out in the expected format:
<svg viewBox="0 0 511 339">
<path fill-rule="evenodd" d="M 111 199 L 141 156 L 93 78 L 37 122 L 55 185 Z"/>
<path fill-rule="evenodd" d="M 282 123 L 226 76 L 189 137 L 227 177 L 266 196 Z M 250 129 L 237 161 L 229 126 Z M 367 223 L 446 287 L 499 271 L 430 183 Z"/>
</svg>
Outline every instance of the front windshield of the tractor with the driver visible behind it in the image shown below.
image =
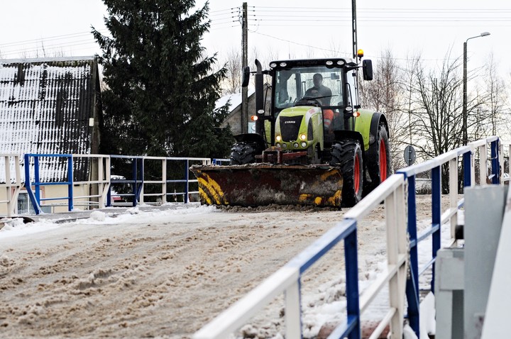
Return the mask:
<svg viewBox="0 0 511 339">
<path fill-rule="evenodd" d="M 294 67 L 275 72 L 275 108 L 295 106 L 300 99 L 317 98 L 322 107 L 344 106 L 342 68 Z"/>
</svg>

